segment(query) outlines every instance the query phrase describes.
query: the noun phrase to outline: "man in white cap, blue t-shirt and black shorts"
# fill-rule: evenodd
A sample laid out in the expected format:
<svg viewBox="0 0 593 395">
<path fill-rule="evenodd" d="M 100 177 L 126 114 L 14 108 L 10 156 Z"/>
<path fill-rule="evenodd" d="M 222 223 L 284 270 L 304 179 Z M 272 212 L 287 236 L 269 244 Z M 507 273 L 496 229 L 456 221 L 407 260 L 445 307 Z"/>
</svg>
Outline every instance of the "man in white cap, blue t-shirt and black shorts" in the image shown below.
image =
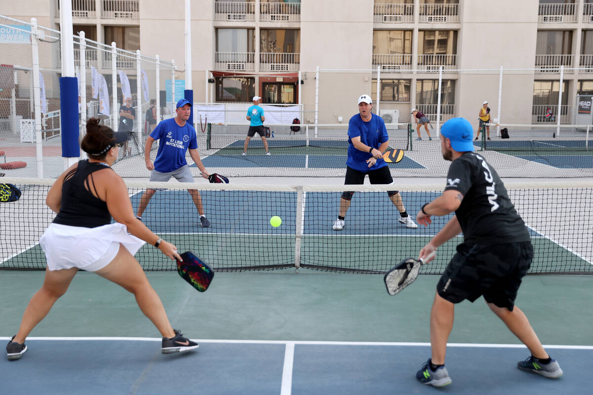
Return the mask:
<svg viewBox="0 0 593 395">
<path fill-rule="evenodd" d="M 371 113 L 372 99 L 369 95 L 358 98 L 358 114 L 348 123 L 348 159 L 346 160 L 345 185 L 361 185 L 365 175 L 369 175 L 371 184 L 393 184 L 393 178 L 383 160 L 383 153 L 389 147 L 387 128 L 381 117 Z M 354 192 L 343 192 L 340 198 L 340 212 L 334 220 L 333 230 L 342 230 L 346 226 L 346 211 L 350 207 Z M 388 191 L 391 202 L 400 212 L 399 221 L 410 229 L 418 226 L 407 214 L 398 191 Z"/>
</svg>

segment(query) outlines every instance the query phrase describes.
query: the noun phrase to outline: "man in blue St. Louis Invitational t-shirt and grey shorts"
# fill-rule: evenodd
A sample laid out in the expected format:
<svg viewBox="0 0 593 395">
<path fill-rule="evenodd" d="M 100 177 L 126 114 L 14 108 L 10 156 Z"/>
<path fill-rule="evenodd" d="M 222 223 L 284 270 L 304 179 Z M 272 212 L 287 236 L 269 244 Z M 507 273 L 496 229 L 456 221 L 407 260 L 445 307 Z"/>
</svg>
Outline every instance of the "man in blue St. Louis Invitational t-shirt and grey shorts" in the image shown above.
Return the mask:
<svg viewBox="0 0 593 395">
<path fill-rule="evenodd" d="M 210 175 L 200 159 L 197 152 L 196 130 L 187 123 L 189 115 L 192 112 L 192 104 L 186 99 L 177 102 L 177 116 L 161 121 L 157 127 L 152 130 L 150 136 L 146 139 L 144 149 L 144 159 L 146 168 L 151 171 L 150 181 L 167 182 L 174 177 L 179 182 L 193 182 L 192 172 L 190 172 L 185 156 L 189 149 L 189 155 L 196 163 L 203 178 Z M 157 151 L 157 158 L 154 163 L 150 160 L 150 150 L 152 143 L 160 140 Z M 202 197 L 197 190 L 188 190 L 192 195 L 193 204 L 196 205 L 197 212 L 200 214 L 200 224 L 202 227 L 209 227 L 210 221 L 206 219 L 202 208 Z M 148 188 L 138 204 L 138 213 L 136 218 L 142 220 L 142 213 L 156 190 Z"/>
</svg>

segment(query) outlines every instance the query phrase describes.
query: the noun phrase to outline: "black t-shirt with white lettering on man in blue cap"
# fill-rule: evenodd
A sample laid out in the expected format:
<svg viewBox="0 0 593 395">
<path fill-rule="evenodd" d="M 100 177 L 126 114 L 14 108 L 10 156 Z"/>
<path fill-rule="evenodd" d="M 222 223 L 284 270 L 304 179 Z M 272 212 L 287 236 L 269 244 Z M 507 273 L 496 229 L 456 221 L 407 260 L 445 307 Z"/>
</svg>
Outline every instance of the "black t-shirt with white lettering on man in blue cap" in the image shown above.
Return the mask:
<svg viewBox="0 0 593 395">
<path fill-rule="evenodd" d="M 477 153 L 466 152 L 451 163 L 445 187 L 448 190 L 463 194 L 455 215 L 466 243 L 498 244 L 531 239 L 495 169 Z"/>
</svg>

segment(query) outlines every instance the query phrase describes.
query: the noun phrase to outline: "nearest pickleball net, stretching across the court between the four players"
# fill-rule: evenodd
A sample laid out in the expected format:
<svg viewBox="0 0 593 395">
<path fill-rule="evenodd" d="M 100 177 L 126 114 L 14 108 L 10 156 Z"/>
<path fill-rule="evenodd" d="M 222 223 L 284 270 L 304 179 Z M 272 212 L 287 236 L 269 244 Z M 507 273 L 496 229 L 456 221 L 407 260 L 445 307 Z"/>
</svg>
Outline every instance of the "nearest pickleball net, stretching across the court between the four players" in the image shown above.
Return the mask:
<svg viewBox="0 0 593 395">
<path fill-rule="evenodd" d="M 55 214 L 44 204 L 52 179 L 9 179 L 23 194 L 0 204 L 0 268 L 44 269 L 39 237 Z M 419 250 L 451 217 L 435 217 L 429 227 L 408 229 L 386 191 L 401 192 L 415 216 L 444 185 L 358 185 L 346 215 L 346 227 L 332 229 L 343 185 L 238 185 L 126 182 L 134 210 L 146 188 L 158 191 L 142 221 L 180 252 L 193 251 L 216 271 L 311 268 L 377 273 Z M 166 189 L 164 189 L 166 188 Z M 535 248 L 531 274 L 593 274 L 593 182 L 508 184 L 509 197 L 524 219 Z M 200 226 L 188 189 L 202 196 L 211 227 Z M 270 226 L 280 216 L 279 227 Z M 462 236 L 438 249 L 422 273 L 440 274 Z M 136 258 L 146 270 L 175 270 L 174 262 L 151 245 Z"/>
</svg>

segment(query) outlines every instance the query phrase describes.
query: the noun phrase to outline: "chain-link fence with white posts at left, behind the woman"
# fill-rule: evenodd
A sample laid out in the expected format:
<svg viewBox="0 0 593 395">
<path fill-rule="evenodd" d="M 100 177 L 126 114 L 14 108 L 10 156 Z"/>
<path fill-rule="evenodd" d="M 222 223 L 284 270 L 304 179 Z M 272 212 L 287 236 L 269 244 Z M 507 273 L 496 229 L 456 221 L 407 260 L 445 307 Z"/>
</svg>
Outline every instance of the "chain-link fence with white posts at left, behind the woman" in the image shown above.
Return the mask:
<svg viewBox="0 0 593 395">
<path fill-rule="evenodd" d="M 25 22 L 2 15 L 0 27 L 0 157 L 12 162 L 3 163 L 2 172 L 56 177 L 64 169 L 60 32 L 38 27 L 34 19 Z M 174 115 L 173 103 L 165 102 L 164 94 L 165 80 L 175 78 L 174 63 L 88 40 L 84 32 L 74 36 L 74 62 L 80 138 L 86 120 L 100 118 L 114 130 L 130 133 L 119 160 L 144 156 L 144 141 L 154 121 Z"/>
</svg>

